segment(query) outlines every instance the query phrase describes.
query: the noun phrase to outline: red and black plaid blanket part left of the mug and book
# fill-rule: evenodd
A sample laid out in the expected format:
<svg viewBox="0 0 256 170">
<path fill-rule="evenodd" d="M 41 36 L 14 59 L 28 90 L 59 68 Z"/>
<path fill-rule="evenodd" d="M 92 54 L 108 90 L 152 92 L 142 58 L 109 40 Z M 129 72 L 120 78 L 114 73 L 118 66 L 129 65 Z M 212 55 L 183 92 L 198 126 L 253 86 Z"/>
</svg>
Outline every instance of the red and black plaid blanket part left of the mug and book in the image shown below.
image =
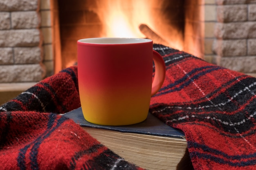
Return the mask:
<svg viewBox="0 0 256 170">
<path fill-rule="evenodd" d="M 142 170 L 61 115 L 80 107 L 77 67 L 0 107 L 1 170 Z"/>
</svg>

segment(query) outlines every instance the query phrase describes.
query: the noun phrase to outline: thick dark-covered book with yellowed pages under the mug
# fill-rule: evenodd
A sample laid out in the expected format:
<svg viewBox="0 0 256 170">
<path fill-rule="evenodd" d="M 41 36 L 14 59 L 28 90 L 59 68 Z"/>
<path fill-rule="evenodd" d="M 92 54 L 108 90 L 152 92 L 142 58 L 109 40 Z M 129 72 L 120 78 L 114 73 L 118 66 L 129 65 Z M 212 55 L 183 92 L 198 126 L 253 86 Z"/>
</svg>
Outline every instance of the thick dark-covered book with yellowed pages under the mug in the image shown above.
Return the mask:
<svg viewBox="0 0 256 170">
<path fill-rule="evenodd" d="M 166 125 L 148 113 L 145 121 L 128 126 L 103 126 L 92 124 L 77 108 L 64 114 L 73 119 L 101 144 L 148 170 L 176 170 L 185 155 L 187 142 L 184 133 Z"/>
</svg>

